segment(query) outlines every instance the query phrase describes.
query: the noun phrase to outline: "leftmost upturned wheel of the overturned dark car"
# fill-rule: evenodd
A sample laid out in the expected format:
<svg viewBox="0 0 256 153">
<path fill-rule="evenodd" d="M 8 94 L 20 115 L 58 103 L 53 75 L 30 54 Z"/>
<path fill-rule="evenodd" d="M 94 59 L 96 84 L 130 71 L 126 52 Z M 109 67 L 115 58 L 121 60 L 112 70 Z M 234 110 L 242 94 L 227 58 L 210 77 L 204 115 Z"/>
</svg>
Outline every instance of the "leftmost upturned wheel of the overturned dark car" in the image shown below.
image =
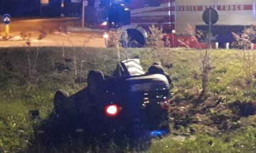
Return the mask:
<svg viewBox="0 0 256 153">
<path fill-rule="evenodd" d="M 54 110 L 57 115 L 63 114 L 62 104 L 69 97 L 68 92 L 65 90 L 58 90 L 54 95 Z"/>
</svg>

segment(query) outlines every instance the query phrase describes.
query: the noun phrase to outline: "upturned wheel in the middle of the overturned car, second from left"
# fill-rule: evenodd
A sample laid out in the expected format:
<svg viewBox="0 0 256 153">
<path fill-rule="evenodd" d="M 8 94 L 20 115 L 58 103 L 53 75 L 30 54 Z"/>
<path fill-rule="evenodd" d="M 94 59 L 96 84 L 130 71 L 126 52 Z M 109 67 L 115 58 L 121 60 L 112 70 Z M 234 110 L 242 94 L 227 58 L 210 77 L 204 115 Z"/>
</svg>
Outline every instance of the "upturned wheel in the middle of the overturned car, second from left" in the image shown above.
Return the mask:
<svg viewBox="0 0 256 153">
<path fill-rule="evenodd" d="M 91 95 L 95 95 L 97 93 L 97 89 L 99 86 L 99 82 L 104 80 L 104 75 L 101 72 L 101 70 L 91 70 L 88 73 L 88 78 L 87 78 L 87 82 L 88 82 L 88 88 L 89 88 L 89 92 Z"/>
</svg>

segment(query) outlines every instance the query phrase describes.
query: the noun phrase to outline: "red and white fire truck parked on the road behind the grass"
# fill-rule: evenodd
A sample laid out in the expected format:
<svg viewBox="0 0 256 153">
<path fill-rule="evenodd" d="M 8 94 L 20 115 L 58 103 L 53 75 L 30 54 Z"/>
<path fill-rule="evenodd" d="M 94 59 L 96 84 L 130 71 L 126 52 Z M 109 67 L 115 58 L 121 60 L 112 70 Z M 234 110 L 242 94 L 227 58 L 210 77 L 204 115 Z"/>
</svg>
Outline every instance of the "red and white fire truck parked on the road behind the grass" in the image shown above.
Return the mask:
<svg viewBox="0 0 256 153">
<path fill-rule="evenodd" d="M 215 42 L 234 40 L 232 32 L 256 23 L 256 0 L 88 0 L 87 24 L 108 29 L 122 27 L 130 40 L 145 45 L 149 25 L 163 28 L 172 47 L 205 47 L 194 39 L 196 30 L 207 30 L 202 14 L 207 8 L 218 11 L 219 20 L 212 26 Z"/>
</svg>

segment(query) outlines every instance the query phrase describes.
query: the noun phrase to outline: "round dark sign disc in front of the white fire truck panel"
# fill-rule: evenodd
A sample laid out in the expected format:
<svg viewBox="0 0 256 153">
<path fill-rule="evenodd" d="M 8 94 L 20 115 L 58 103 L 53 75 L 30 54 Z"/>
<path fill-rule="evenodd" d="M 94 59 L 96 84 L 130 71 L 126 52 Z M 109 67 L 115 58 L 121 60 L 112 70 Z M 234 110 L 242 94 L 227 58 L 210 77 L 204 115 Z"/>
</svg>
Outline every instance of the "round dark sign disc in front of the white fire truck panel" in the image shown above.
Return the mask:
<svg viewBox="0 0 256 153">
<path fill-rule="evenodd" d="M 202 18 L 203 18 L 205 24 L 213 25 L 213 24 L 216 24 L 216 22 L 218 21 L 219 13 L 217 12 L 217 10 L 210 7 L 204 11 Z"/>
</svg>

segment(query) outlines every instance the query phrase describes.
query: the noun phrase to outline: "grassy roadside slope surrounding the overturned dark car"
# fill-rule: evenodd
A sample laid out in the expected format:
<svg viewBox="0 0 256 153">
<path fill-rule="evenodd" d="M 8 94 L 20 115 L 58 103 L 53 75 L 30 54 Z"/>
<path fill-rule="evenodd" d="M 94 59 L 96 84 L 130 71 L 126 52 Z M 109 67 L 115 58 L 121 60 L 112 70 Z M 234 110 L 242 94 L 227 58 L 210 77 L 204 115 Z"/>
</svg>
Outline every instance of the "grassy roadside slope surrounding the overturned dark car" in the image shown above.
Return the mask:
<svg viewBox="0 0 256 153">
<path fill-rule="evenodd" d="M 33 150 L 35 148 L 32 148 L 36 144 L 33 131 L 35 121 L 29 117 L 29 110 L 38 109 L 42 120 L 48 118 L 52 112 L 55 90 L 65 89 L 69 94 L 73 94 L 87 86 L 89 70 L 101 69 L 105 75 L 111 75 L 118 63 L 115 49 L 66 47 L 63 57 L 61 47 L 42 47 L 36 59 L 37 48 L 31 47 L 29 57 L 32 67 L 29 67 L 25 51 L 26 47 L 0 49 L 0 152 L 35 151 Z M 174 106 L 182 104 L 185 109 L 189 109 L 201 90 L 202 52 L 203 50 L 158 49 L 153 55 L 150 49 L 128 49 L 127 56 L 139 57 L 144 70 L 147 70 L 154 61 L 160 61 L 166 72 L 171 74 L 175 84 L 174 89 L 171 90 Z M 76 66 L 74 66 L 74 57 L 77 61 Z M 121 59 L 125 58 L 126 55 L 121 52 Z M 189 126 L 195 126 L 196 129 L 196 133 L 190 138 L 180 141 L 176 140 L 174 135 L 169 135 L 161 140 L 156 139 L 152 141 L 146 152 L 256 151 L 255 112 L 249 117 L 240 117 L 241 109 L 238 108 L 243 107 L 230 107 L 236 101 L 252 103 L 252 106 L 256 101 L 255 77 L 254 88 L 250 90 L 247 88 L 243 52 L 213 50 L 211 59 L 208 92 L 210 98 L 205 103 L 218 101 L 219 104 L 211 109 L 205 106 L 207 109 L 204 112 L 200 109 L 197 114 L 214 120 L 218 118 L 218 121 L 221 120 L 219 118 L 225 117 L 226 119 L 221 120 L 219 124 L 228 128 L 217 126 L 213 122 L 190 123 Z M 68 69 L 62 69 L 63 66 Z M 81 78 L 79 83 L 74 73 L 75 68 L 77 76 Z M 32 70 L 30 77 L 29 69 Z M 256 67 L 252 66 L 252 69 L 256 73 Z M 174 122 L 179 119 L 174 118 Z M 237 124 L 239 126 L 233 128 Z M 179 129 L 179 132 L 188 132 L 187 127 Z M 115 143 L 108 143 L 103 148 L 100 144 L 98 146 L 97 150 L 93 146 L 84 146 L 84 144 L 67 144 L 62 148 L 50 147 L 50 150 L 52 152 L 120 151 Z M 136 152 L 132 149 L 123 149 L 124 152 Z M 43 146 L 37 148 L 37 152 L 46 152 L 46 150 Z"/>
</svg>

